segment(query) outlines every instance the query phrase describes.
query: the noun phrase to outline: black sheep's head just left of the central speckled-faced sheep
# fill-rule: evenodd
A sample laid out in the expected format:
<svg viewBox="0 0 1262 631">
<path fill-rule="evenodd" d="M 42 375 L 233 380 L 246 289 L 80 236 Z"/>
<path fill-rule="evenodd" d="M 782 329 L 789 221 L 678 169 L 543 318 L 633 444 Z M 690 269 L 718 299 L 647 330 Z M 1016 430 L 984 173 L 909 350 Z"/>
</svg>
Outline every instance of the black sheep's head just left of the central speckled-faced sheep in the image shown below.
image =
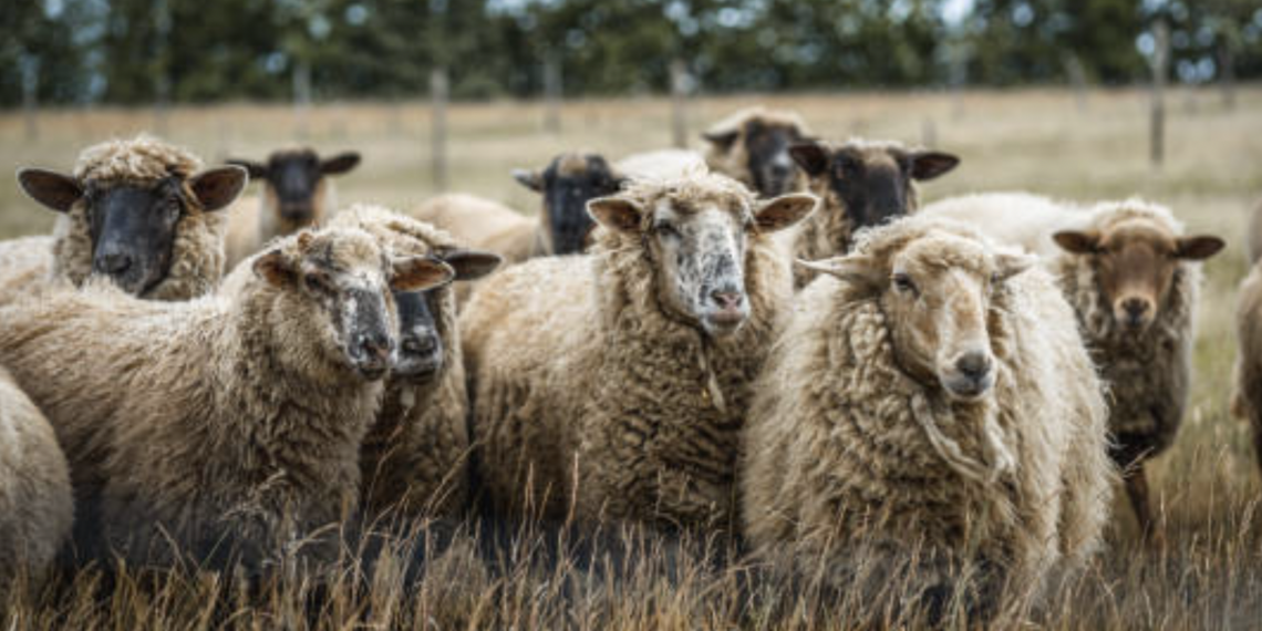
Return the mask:
<svg viewBox="0 0 1262 631">
<path fill-rule="evenodd" d="M 512 175 L 543 194 L 548 246 L 555 255 L 583 251 L 594 227 L 587 215 L 587 202 L 617 193 L 626 182 L 604 158 L 578 153 L 558 155 L 541 172 L 516 169 Z"/>
</svg>

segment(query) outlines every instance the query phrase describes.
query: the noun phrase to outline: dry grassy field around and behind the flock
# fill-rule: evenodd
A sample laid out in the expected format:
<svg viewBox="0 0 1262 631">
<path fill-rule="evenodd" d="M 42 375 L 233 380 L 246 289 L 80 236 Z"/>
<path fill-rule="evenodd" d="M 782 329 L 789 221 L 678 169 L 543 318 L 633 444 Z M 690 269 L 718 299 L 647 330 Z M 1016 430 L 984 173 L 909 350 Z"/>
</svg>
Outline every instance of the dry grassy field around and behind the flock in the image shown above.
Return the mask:
<svg viewBox="0 0 1262 631">
<path fill-rule="evenodd" d="M 1141 194 L 1171 206 L 1191 228 L 1228 240 L 1227 252 L 1206 265 L 1193 400 L 1182 432 L 1175 447 L 1150 464 L 1167 526 L 1165 545 L 1140 544 L 1129 509 L 1118 502 L 1109 549 L 1097 567 L 1013 623 L 1262 628 L 1262 526 L 1256 519 L 1262 485 L 1248 428 L 1227 413 L 1237 348 L 1234 292 L 1247 268 L 1244 226 L 1262 198 L 1262 87 L 1242 90 L 1233 110 L 1225 110 L 1215 92 L 1171 93 L 1167 156 L 1160 169 L 1148 163 L 1147 97 L 1137 91 L 1094 92 L 1084 107 L 1061 91 L 707 98 L 689 106 L 690 134 L 695 139 L 708 121 L 753 103 L 798 110 L 827 138 L 931 141 L 959 154 L 957 172 L 923 189 L 926 201 L 996 189 L 1080 201 Z M 449 188 L 526 212 L 535 212 L 539 199 L 511 179 L 511 168 L 541 167 L 573 148 L 615 158 L 660 148 L 669 143 L 670 129 L 669 102 L 656 98 L 567 103 L 560 134 L 543 131 L 536 103 L 461 105 L 449 110 L 448 120 Z M 329 151 L 358 149 L 363 165 L 338 183 L 343 204 L 406 207 L 434 192 L 424 103 L 324 105 L 303 119 L 283 106 L 177 109 L 165 126 L 165 136 L 215 162 L 261 158 L 294 143 Z M 20 115 L 0 115 L 0 170 L 68 170 L 82 146 L 154 127 L 151 111 L 49 111 L 40 115 L 38 138 L 32 139 Z M 50 225 L 52 213 L 24 199 L 11 178 L 0 183 L 0 237 L 44 232 Z M 522 545 L 529 550 L 529 541 Z M 646 558 L 669 557 L 652 551 L 652 541 L 645 545 Z M 203 628 L 231 622 L 257 628 L 292 626 L 300 618 L 324 628 L 809 628 L 886 622 L 859 611 L 862 603 L 853 598 L 832 602 L 820 613 L 814 607 L 818 594 L 786 593 L 786 586 L 751 589 L 740 568 L 685 563 L 666 572 L 646 562 L 615 578 L 592 578 L 564 555 L 543 568 L 510 558 L 493 572 L 462 558 L 452 554 L 428 565 L 416 591 L 381 578 L 363 592 L 343 578 L 329 588 L 337 594 L 332 604 L 300 617 L 294 612 L 309 599 L 309 586 L 281 586 L 261 601 L 225 601 L 208 594 L 222 592 L 226 579 L 197 577 L 150 589 L 122 583 L 101 596 L 92 575 L 83 574 L 49 592 L 10 596 L 0 606 L 0 623 Z"/>
</svg>

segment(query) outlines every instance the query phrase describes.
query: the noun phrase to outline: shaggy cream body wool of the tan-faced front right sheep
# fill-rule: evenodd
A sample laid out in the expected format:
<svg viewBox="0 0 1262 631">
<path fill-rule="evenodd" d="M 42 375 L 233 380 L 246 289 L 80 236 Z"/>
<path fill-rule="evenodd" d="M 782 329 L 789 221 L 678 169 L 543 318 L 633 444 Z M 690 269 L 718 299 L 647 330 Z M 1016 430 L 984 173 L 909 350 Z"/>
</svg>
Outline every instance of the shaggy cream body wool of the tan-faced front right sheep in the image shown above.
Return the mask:
<svg viewBox="0 0 1262 631">
<path fill-rule="evenodd" d="M 944 228 L 904 220 L 868 231 L 856 251 L 883 256 L 929 230 Z M 864 289 L 825 276 L 799 294 L 745 435 L 743 525 L 756 551 L 787 553 L 803 572 L 823 563 L 846 584 L 862 549 L 919 550 L 926 581 L 981 563 L 998 570 L 994 584 L 1016 587 L 1092 554 L 1112 481 L 1099 382 L 1053 279 L 1029 270 L 1006 284 L 988 316 L 996 384 L 977 403 L 900 367 L 899 324 Z"/>
</svg>

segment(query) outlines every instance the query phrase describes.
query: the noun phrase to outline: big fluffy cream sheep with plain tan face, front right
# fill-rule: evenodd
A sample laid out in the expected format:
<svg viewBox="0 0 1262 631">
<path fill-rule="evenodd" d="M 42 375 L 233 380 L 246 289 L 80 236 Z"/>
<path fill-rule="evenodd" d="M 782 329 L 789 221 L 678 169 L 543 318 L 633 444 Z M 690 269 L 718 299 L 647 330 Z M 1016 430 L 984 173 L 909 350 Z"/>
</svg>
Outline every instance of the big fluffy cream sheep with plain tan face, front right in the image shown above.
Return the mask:
<svg viewBox="0 0 1262 631">
<path fill-rule="evenodd" d="M 948 568 L 978 564 L 994 594 L 1058 560 L 1080 567 L 1113 469 L 1100 384 L 1053 278 L 920 217 L 808 265 L 822 276 L 798 295 L 743 435 L 755 554 L 861 593 L 904 577 L 933 596 Z M 902 569 L 864 584 L 873 567 Z"/>
</svg>

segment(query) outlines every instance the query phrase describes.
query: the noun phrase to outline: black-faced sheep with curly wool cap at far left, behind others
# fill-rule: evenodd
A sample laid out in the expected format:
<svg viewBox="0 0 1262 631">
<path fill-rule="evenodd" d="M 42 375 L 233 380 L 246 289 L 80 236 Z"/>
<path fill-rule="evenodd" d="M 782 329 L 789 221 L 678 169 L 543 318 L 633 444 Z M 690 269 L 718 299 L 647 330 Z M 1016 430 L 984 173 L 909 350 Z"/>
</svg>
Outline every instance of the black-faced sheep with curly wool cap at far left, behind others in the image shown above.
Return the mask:
<svg viewBox="0 0 1262 631">
<path fill-rule="evenodd" d="M 186 300 L 223 275 L 225 218 L 247 182 L 240 167 L 202 170 L 186 149 L 151 136 L 111 140 L 80 154 L 71 175 L 24 168 L 23 191 L 61 216 L 53 236 L 0 244 L 0 294 L 66 278 L 76 286 L 109 276 L 125 292 Z M 29 250 L 19 252 L 16 250 Z"/>
</svg>

